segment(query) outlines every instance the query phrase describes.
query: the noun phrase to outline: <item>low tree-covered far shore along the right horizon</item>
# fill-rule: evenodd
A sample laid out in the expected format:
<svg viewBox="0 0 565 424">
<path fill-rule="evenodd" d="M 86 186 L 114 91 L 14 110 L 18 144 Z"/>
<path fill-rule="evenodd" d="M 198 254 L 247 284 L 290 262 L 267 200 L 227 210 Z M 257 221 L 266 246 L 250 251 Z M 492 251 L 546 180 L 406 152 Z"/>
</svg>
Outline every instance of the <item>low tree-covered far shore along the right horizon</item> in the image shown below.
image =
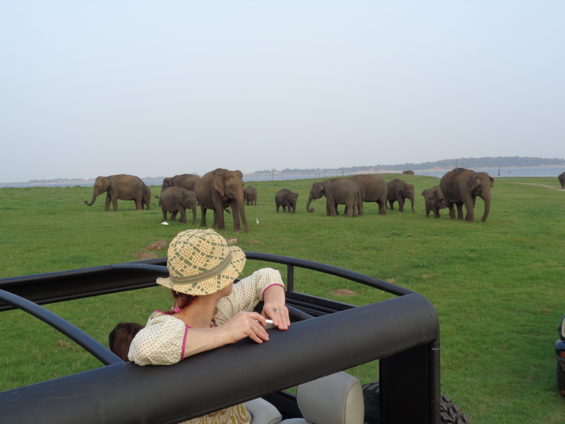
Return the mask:
<svg viewBox="0 0 565 424">
<path fill-rule="evenodd" d="M 457 161 L 457 162 L 456 162 Z M 499 156 L 484 158 L 459 158 L 444 159 L 436 162 L 422 163 L 399 163 L 397 165 L 372 165 L 372 166 L 351 166 L 341 168 L 309 168 L 309 169 L 290 169 L 284 170 L 263 170 L 255 171 L 253 174 L 270 174 L 271 172 L 359 172 L 359 171 L 407 171 L 407 170 L 434 170 L 436 168 L 455 168 L 456 163 L 460 168 L 503 168 L 503 167 L 527 167 L 544 165 L 565 165 L 565 159 L 550 158 L 530 158 L 519 156 Z"/>
</svg>

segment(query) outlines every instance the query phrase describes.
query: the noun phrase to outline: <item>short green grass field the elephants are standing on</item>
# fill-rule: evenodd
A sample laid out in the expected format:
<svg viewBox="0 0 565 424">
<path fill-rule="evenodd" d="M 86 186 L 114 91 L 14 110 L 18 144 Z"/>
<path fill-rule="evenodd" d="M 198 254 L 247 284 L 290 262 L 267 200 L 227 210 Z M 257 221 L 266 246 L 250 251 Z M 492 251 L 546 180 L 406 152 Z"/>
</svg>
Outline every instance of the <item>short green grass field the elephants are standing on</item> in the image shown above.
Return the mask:
<svg viewBox="0 0 565 424">
<path fill-rule="evenodd" d="M 438 184 L 437 178 L 402 178 L 415 185 L 416 213 L 408 209 L 379 216 L 376 204 L 365 204 L 364 215 L 357 218 L 327 217 L 325 198 L 313 202 L 315 212 L 308 214 L 314 180 L 253 183 L 258 206 L 246 207 L 250 232 L 236 235 L 238 245 L 329 263 L 421 293 L 441 321 L 442 393 L 473 423 L 565 422 L 553 351 L 565 313 L 565 193 L 519 184 L 557 186 L 557 179 L 497 178 L 488 220 L 467 223 L 450 220 L 447 209 L 440 219 L 425 218 L 420 193 Z M 299 193 L 296 214 L 275 213 L 274 197 L 281 188 Z M 105 212 L 103 196 L 92 207 L 82 203 L 91 197 L 88 187 L 0 189 L 0 277 L 133 261 L 143 246 L 195 228 L 179 222 L 160 225 L 157 205 L 136 211 L 133 202 L 119 201 L 118 212 Z M 482 210 L 479 199 L 478 217 Z M 198 212 L 197 224 L 199 217 Z M 226 223 L 228 231 L 221 233 L 232 236 L 230 215 Z M 156 253 L 166 256 L 164 249 Z M 245 275 L 262 266 L 248 261 Z M 284 267 L 270 266 L 285 277 Z M 337 288 L 359 294 L 334 296 Z M 300 269 L 295 289 L 355 305 L 389 297 Z M 151 311 L 170 305 L 168 291 L 155 287 L 46 307 L 107 344 L 116 323 L 145 324 Z M 88 353 L 37 319 L 20 311 L 0 313 L 0 390 L 97 366 Z M 363 383 L 378 378 L 375 364 L 351 372 Z"/>
</svg>

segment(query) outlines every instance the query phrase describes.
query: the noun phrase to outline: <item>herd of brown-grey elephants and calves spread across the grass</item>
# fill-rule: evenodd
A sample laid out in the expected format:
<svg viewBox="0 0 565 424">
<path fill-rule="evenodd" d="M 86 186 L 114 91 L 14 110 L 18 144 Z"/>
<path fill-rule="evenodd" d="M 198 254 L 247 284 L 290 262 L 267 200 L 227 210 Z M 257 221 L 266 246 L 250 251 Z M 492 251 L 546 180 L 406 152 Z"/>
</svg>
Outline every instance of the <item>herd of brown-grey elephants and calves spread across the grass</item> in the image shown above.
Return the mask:
<svg viewBox="0 0 565 424">
<path fill-rule="evenodd" d="M 425 200 L 426 217 L 430 211 L 434 217 L 440 218 L 440 209 L 449 208 L 451 219 L 455 219 L 454 206 L 457 206 L 457 218 L 463 219 L 463 205 L 465 205 L 467 221 L 474 221 L 474 208 L 476 197 L 484 200 L 485 210 L 481 221 L 485 222 L 490 210 L 490 188 L 494 180 L 486 172 L 475 172 L 464 168 L 455 168 L 447 172 L 440 181 L 440 185 L 426 189 L 421 194 Z M 186 223 L 186 209 L 192 211 L 192 223 L 196 223 L 196 208 L 200 206 L 201 226 L 206 226 L 206 212 L 214 212 L 214 227 L 225 230 L 224 212 L 231 213 L 233 217 L 233 231 L 242 232 L 243 223 L 245 232 L 249 226 L 245 218 L 245 202 L 247 206 L 257 205 L 257 189 L 249 186 L 244 189 L 243 174 L 241 171 L 228 171 L 218 168 L 207 172 L 202 178 L 197 175 L 182 174 L 165 178 L 160 196 L 155 196 L 145 183 L 133 175 L 99 176 L 94 183 L 92 201 L 84 201 L 92 206 L 97 196 L 106 192 L 105 210 L 118 210 L 118 200 L 133 200 L 136 210 L 150 208 L 151 196 L 159 199 L 159 206 L 163 212 L 163 221 L 167 220 L 167 213 L 171 213 L 170 220 L 175 220 L 180 213 L 180 221 Z M 379 175 L 354 175 L 350 178 L 334 178 L 312 184 L 306 210 L 314 212 L 310 207 L 311 202 L 321 197 L 326 198 L 326 213 L 328 216 L 339 215 L 338 205 L 345 205 L 346 217 L 363 215 L 363 203 L 375 202 L 379 205 L 379 215 L 386 215 L 387 202 L 390 210 L 394 210 L 394 202 L 398 202 L 398 210 L 403 211 L 406 199 L 411 202 L 414 212 L 414 185 L 405 181 L 394 179 L 385 182 Z M 298 194 L 289 189 L 282 189 L 275 195 L 276 211 L 296 212 Z M 231 208 L 228 209 L 228 208 Z M 241 218 L 241 222 L 240 222 Z"/>
</svg>

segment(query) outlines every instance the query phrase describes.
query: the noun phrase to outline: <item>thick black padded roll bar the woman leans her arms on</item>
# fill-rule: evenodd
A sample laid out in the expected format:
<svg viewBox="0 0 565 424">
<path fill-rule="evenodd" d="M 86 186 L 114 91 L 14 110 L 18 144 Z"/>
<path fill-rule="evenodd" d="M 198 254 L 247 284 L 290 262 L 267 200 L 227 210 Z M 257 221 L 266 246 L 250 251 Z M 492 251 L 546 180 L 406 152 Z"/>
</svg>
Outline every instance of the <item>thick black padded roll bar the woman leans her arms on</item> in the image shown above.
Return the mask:
<svg viewBox="0 0 565 424">
<path fill-rule="evenodd" d="M 268 331 L 266 343 L 244 339 L 175 365 L 110 365 L 1 392 L 0 423 L 176 424 L 398 352 L 419 362 L 412 348 L 437 339 L 439 321 L 414 293 Z"/>
</svg>

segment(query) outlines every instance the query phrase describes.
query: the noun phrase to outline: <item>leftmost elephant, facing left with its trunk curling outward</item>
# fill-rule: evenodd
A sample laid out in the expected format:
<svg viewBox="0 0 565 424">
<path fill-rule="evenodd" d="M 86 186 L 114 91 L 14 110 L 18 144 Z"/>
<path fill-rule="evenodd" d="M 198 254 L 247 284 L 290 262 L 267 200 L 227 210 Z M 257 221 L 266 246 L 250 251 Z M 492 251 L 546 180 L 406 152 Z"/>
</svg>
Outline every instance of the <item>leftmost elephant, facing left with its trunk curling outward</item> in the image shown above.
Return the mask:
<svg viewBox="0 0 565 424">
<path fill-rule="evenodd" d="M 119 174 L 110 176 L 99 176 L 96 181 L 94 181 L 94 190 L 92 193 L 92 201 L 89 203 L 85 200 L 86 206 L 92 206 L 96 201 L 96 198 L 106 192 L 106 204 L 104 205 L 104 210 L 108 211 L 110 209 L 110 202 L 112 202 L 112 207 L 114 211 L 118 210 L 118 200 L 133 200 L 136 202 L 136 210 L 142 210 L 144 205 L 147 209 L 151 209 L 150 198 L 155 196 L 151 193 L 149 187 L 141 180 L 141 178 L 135 175 Z"/>
</svg>

